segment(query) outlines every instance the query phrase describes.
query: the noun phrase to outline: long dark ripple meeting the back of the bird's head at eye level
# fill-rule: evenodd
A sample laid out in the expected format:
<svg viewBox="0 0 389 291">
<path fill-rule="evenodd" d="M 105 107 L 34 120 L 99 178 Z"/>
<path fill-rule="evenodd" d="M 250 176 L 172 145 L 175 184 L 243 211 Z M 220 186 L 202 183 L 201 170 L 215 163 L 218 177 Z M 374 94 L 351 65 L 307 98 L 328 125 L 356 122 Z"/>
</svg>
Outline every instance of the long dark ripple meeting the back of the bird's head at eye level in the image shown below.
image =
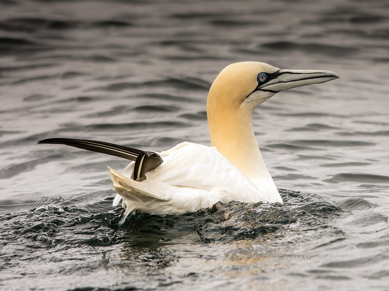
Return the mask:
<svg viewBox="0 0 389 291">
<path fill-rule="evenodd" d="M 105 87 L 96 87 L 91 90 L 105 90 L 110 92 L 115 91 L 124 91 L 128 89 L 135 88 L 156 88 L 156 87 L 173 87 L 182 90 L 209 90 L 211 84 L 209 82 L 197 79 L 197 78 L 184 78 L 184 79 L 173 79 L 169 78 L 167 80 L 162 81 L 147 81 L 142 83 L 114 83 L 107 85 Z"/>
</svg>

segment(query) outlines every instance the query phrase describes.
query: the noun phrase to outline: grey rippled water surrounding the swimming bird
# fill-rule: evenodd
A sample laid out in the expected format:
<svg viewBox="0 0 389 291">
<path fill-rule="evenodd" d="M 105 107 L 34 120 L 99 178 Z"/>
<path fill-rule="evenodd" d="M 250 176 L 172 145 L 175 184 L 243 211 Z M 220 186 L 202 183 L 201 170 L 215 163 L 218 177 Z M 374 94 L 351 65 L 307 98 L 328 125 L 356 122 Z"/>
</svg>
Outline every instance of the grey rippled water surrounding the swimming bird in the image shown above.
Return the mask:
<svg viewBox="0 0 389 291">
<path fill-rule="evenodd" d="M 280 92 L 254 131 L 284 204 L 123 226 L 107 165 L 61 145 L 210 145 L 230 63 L 342 79 Z M 0 1 L 0 289 L 389 290 L 386 0 Z"/>
</svg>

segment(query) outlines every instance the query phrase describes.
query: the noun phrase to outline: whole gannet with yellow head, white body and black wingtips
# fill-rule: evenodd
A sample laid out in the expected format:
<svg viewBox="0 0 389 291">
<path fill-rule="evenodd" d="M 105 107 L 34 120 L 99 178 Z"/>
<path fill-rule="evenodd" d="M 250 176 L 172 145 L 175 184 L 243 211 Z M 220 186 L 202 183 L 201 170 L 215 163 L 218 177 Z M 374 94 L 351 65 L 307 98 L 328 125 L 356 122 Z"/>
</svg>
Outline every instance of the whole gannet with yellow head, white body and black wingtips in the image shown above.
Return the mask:
<svg viewBox="0 0 389 291">
<path fill-rule="evenodd" d="M 218 202 L 279 202 L 281 196 L 254 136 L 254 108 L 277 92 L 340 78 L 330 71 L 279 69 L 261 62 L 238 62 L 221 71 L 207 99 L 211 147 L 182 142 L 163 152 L 147 152 L 81 139 L 44 139 L 132 160 L 122 173 L 110 169 L 111 187 L 129 213 L 184 214 Z"/>
</svg>

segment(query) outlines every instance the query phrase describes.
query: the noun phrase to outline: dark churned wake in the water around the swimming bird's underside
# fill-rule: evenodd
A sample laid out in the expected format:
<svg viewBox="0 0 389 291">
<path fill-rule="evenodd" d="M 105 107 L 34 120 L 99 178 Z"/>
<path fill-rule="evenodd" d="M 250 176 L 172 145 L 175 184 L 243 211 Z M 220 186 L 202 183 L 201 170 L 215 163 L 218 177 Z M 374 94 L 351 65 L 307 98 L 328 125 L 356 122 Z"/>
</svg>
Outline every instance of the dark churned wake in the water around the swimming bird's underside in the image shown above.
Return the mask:
<svg viewBox="0 0 389 291">
<path fill-rule="evenodd" d="M 342 234 L 331 225 L 339 215 L 344 215 L 336 202 L 318 195 L 284 189 L 280 189 L 280 193 L 284 204 L 233 201 L 219 205 L 217 211 L 165 217 L 138 212 L 130 215 L 123 226 L 118 225 L 123 213 L 121 208 L 89 214 L 86 208 L 51 204 L 2 216 L 0 231 L 7 234 L 4 237 L 7 241 L 22 240 L 42 248 L 58 244 L 109 246 L 121 242 L 137 245 L 146 241 L 147 244 L 158 244 L 188 233 L 196 234 L 197 243 L 261 239 L 265 234 L 272 234 L 277 239 L 280 236 L 291 239 L 293 232 L 323 229 Z M 79 238 L 74 236 L 75 228 L 77 233 L 84 232 L 84 235 Z M 60 238 L 58 233 L 61 233 Z M 134 233 L 141 239 L 140 242 L 134 240 Z"/>
</svg>

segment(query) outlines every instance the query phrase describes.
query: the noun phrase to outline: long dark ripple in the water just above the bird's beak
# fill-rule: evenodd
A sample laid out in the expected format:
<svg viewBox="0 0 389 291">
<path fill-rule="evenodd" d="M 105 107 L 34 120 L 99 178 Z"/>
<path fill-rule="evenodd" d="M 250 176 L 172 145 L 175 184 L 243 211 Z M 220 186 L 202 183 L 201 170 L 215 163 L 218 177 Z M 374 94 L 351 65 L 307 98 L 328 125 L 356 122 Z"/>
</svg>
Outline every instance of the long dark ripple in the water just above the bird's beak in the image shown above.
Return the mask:
<svg viewBox="0 0 389 291">
<path fill-rule="evenodd" d="M 286 50 L 290 52 L 291 50 L 300 50 L 309 54 L 324 54 L 333 57 L 349 57 L 351 54 L 355 54 L 359 51 L 356 47 L 346 47 L 346 46 L 337 46 L 337 45 L 326 45 L 321 43 L 296 43 L 296 42 L 269 42 L 263 43 L 261 47 L 272 50 Z"/>
</svg>

